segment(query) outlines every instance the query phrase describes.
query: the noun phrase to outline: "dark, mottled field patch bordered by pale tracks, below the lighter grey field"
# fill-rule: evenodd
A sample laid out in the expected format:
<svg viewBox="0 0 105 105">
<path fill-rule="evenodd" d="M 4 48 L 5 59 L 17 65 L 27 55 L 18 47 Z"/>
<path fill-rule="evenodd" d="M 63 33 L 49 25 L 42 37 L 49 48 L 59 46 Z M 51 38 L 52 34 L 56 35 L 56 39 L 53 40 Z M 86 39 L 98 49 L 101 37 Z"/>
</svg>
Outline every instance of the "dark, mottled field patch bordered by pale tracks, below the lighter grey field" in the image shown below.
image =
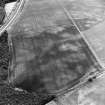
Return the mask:
<svg viewBox="0 0 105 105">
<path fill-rule="evenodd" d="M 32 91 L 57 92 L 71 88 L 90 70 L 94 59 L 74 26 L 57 33 L 44 31 L 35 37 L 15 36 L 16 86 Z M 13 71 L 14 73 L 14 71 Z"/>
</svg>

